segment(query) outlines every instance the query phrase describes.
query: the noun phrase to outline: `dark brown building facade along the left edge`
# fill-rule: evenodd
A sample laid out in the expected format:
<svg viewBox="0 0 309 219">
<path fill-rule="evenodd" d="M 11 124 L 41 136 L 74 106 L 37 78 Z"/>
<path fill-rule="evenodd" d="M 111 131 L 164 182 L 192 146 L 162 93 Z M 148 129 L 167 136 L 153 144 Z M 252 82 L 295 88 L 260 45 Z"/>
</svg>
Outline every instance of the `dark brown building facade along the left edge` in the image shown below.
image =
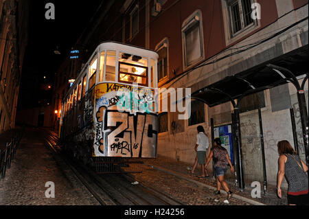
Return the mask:
<svg viewBox="0 0 309 219">
<path fill-rule="evenodd" d="M 27 1 L 0 1 L 0 132 L 14 128 L 27 45 Z"/>
</svg>

